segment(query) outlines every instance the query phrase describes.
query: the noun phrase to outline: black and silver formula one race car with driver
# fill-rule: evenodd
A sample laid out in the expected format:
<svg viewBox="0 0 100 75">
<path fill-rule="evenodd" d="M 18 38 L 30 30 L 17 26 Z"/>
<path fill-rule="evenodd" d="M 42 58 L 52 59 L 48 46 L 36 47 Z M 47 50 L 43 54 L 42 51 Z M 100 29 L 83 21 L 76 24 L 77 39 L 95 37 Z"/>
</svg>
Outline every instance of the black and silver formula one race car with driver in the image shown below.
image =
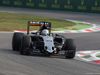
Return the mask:
<svg viewBox="0 0 100 75">
<path fill-rule="evenodd" d="M 30 33 L 30 26 L 40 26 L 40 30 Z M 29 21 L 27 35 L 21 32 L 13 34 L 12 49 L 22 55 L 37 52 L 50 56 L 63 51 L 66 58 L 72 59 L 75 57 L 76 45 L 73 39 L 51 33 L 50 22 Z"/>
</svg>

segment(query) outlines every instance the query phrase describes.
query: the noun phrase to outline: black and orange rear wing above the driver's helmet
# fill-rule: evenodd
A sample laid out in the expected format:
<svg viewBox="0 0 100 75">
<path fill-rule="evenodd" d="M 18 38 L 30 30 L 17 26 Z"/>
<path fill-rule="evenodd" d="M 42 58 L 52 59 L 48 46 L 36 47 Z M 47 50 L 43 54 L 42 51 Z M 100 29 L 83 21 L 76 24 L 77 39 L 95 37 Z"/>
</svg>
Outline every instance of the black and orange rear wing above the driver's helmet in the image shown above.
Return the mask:
<svg viewBox="0 0 100 75">
<path fill-rule="evenodd" d="M 28 22 L 28 26 L 27 26 L 27 34 L 29 34 L 29 28 L 30 26 L 42 26 L 44 25 L 47 27 L 47 29 L 49 30 L 49 33 L 51 32 L 51 23 L 50 22 L 35 22 L 35 21 L 29 21 Z"/>
</svg>

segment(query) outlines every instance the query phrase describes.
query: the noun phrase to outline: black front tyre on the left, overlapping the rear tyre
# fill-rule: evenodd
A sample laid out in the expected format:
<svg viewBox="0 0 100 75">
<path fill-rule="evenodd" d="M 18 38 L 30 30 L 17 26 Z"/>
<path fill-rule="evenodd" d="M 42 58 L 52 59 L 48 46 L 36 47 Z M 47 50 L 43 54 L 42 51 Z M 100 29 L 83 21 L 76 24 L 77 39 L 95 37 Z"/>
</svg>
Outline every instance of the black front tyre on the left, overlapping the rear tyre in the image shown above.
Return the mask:
<svg viewBox="0 0 100 75">
<path fill-rule="evenodd" d="M 31 47 L 31 37 L 28 35 L 24 35 L 21 39 L 20 54 L 29 55 L 30 47 Z"/>
</svg>

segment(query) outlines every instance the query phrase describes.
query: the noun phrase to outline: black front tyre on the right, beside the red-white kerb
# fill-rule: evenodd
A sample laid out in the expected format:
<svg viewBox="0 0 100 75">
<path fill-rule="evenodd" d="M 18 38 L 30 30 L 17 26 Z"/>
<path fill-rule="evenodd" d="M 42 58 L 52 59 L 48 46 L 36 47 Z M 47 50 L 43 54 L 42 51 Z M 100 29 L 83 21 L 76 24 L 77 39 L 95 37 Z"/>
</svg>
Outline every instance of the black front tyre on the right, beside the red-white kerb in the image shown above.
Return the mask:
<svg viewBox="0 0 100 75">
<path fill-rule="evenodd" d="M 73 39 L 66 39 L 64 43 L 65 58 L 72 59 L 75 57 L 76 45 Z"/>
</svg>

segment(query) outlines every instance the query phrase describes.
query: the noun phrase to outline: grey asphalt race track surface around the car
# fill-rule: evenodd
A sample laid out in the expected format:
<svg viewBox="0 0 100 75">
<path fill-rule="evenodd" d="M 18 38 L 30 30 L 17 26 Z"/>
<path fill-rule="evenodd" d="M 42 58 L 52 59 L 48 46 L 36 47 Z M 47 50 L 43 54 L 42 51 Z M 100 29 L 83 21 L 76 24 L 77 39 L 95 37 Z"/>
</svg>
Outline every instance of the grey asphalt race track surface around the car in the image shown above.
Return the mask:
<svg viewBox="0 0 100 75">
<path fill-rule="evenodd" d="M 50 16 L 100 24 L 100 14 L 0 7 L 0 11 Z M 13 33 L 0 32 L 0 75 L 100 75 L 100 65 L 63 56 L 24 56 L 12 51 Z M 76 41 L 77 51 L 100 50 L 100 32 L 60 34 Z"/>
</svg>

